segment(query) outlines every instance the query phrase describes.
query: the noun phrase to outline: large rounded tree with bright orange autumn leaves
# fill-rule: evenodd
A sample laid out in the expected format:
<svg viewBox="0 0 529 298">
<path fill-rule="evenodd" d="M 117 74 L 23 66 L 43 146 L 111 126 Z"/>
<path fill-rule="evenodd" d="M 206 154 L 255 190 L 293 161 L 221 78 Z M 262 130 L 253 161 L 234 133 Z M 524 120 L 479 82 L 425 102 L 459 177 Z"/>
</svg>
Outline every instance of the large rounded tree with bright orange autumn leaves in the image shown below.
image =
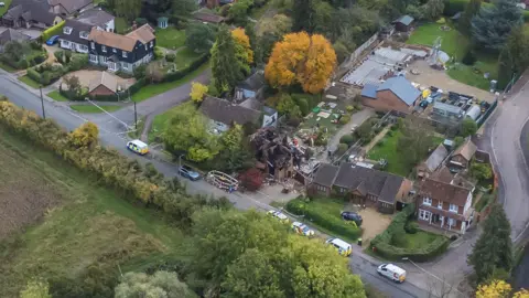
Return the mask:
<svg viewBox="0 0 529 298">
<path fill-rule="evenodd" d="M 325 87 L 335 65 L 334 49 L 323 35 L 291 33 L 273 46 L 264 76 L 273 87 L 300 84 L 315 94 Z"/>
</svg>

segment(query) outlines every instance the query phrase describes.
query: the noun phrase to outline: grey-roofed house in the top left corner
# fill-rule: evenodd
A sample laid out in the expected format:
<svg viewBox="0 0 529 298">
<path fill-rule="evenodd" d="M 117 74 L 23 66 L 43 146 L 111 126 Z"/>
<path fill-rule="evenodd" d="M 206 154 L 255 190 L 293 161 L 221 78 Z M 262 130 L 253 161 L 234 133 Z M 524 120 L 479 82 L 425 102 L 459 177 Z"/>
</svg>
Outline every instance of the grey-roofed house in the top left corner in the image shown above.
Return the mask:
<svg viewBox="0 0 529 298">
<path fill-rule="evenodd" d="M 45 0 L 13 0 L 1 23 L 8 28 L 46 29 L 62 21 L 63 18 L 54 13 Z"/>
</svg>

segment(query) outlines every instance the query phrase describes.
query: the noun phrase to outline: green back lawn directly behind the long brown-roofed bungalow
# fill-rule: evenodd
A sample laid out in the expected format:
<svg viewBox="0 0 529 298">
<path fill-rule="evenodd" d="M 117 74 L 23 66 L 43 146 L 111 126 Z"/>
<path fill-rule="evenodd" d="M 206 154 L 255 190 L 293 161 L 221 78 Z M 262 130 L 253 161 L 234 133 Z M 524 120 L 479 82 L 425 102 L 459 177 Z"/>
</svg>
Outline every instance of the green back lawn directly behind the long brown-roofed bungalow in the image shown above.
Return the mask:
<svg viewBox="0 0 529 298">
<path fill-rule="evenodd" d="M 412 166 L 407 164 L 401 158 L 402 152 L 397 150 L 397 142 L 402 132 L 400 130 L 389 131 L 388 134 L 392 134 L 392 136 L 386 135 L 386 137 L 382 139 L 384 142 L 379 141 L 377 145 L 375 145 L 375 147 L 369 150 L 367 158 L 371 160 L 386 159 L 388 166 L 386 167 L 385 171 L 408 177 L 408 174 L 411 172 Z M 443 138 L 434 137 L 433 143 L 436 146 L 441 141 L 443 141 Z"/>
</svg>

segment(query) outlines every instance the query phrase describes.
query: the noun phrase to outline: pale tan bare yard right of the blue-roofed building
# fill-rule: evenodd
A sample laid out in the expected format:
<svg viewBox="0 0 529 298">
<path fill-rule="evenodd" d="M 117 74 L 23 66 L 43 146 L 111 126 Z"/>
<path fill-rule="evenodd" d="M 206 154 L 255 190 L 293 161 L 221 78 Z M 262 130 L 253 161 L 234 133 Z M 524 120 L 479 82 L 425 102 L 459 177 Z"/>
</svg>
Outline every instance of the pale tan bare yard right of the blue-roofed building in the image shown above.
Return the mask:
<svg viewBox="0 0 529 298">
<path fill-rule="evenodd" d="M 468 86 L 458 81 L 451 78 L 444 71 L 436 71 L 428 65 L 424 60 L 414 61 L 408 68 L 408 79 L 419 83 L 424 87 L 435 86 L 444 92 L 456 92 L 466 95 L 472 95 L 483 100 L 494 102 L 494 94 Z M 411 70 L 418 70 L 419 75 L 409 73 Z"/>
</svg>

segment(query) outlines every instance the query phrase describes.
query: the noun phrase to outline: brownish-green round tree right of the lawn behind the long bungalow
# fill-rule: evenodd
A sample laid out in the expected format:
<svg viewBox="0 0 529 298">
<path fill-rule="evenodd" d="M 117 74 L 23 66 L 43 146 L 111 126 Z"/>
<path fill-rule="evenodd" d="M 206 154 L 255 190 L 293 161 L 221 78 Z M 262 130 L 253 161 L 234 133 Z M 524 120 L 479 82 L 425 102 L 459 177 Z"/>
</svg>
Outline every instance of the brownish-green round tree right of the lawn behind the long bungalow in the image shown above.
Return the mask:
<svg viewBox="0 0 529 298">
<path fill-rule="evenodd" d="M 402 152 L 408 164 L 415 164 L 428 155 L 432 146 L 433 130 L 424 119 L 414 116 L 408 116 L 400 130 L 402 135 L 397 140 L 397 150 Z"/>
</svg>

